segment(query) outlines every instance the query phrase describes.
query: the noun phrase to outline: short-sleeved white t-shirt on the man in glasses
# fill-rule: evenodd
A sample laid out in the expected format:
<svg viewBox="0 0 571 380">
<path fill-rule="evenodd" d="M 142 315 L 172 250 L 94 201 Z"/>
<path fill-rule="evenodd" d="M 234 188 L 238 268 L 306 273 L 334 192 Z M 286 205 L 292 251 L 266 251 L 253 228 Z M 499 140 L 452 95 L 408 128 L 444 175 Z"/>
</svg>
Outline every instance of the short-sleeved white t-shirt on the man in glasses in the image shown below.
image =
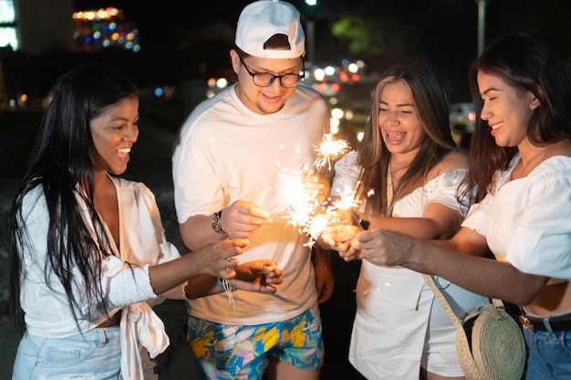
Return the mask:
<svg viewBox="0 0 571 380">
<path fill-rule="evenodd" d="M 312 167 L 329 118 L 327 100 L 311 87 L 299 85 L 284 108 L 259 115 L 232 86 L 203 101 L 184 121 L 172 156 L 178 221 L 210 215 L 235 200 L 253 202 L 272 222 L 254 231 L 238 259 L 274 259 L 284 278 L 275 294 L 236 292 L 235 313 L 223 293 L 191 300 L 192 316 L 221 324 L 274 323 L 317 302 L 307 237 L 284 218 L 280 175 Z"/>
</svg>

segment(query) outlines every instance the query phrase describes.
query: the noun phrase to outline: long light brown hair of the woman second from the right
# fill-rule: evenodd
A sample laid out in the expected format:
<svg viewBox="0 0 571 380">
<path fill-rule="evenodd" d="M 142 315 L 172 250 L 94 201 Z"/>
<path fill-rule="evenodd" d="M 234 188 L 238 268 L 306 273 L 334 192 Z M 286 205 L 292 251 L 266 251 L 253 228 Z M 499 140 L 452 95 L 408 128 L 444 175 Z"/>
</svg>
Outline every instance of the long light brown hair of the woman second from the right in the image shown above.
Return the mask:
<svg viewBox="0 0 571 380">
<path fill-rule="evenodd" d="M 419 154 L 412 160 L 392 202 L 387 200 L 387 169 L 390 151 L 379 130 L 379 102 L 383 88 L 402 82 L 410 88 L 414 107 L 425 132 Z M 430 170 L 452 150 L 458 150 L 452 139 L 448 96 L 431 67 L 423 61 L 411 61 L 389 67 L 375 89 L 375 95 L 363 139 L 358 143 L 358 163 L 361 166 L 357 196 L 366 201 L 366 210 L 390 216 L 392 205 L 423 183 Z M 375 190 L 368 195 L 369 190 Z"/>
</svg>

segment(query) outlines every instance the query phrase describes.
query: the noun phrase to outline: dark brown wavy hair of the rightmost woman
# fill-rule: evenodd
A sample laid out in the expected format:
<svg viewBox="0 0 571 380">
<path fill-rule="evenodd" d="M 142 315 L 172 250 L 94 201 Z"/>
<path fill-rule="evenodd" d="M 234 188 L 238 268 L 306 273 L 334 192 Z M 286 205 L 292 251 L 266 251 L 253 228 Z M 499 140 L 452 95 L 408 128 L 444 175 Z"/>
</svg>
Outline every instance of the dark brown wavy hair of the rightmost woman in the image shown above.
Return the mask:
<svg viewBox="0 0 571 380">
<path fill-rule="evenodd" d="M 470 146 L 470 171 L 464 178 L 476 189 L 473 202 L 483 200 L 497 169 L 507 169 L 516 147 L 499 147 L 481 118 L 483 101 L 478 72 L 500 77 L 509 86 L 529 91 L 539 99 L 527 124 L 527 137 L 536 146 L 571 139 L 571 76 L 560 52 L 543 36 L 518 32 L 502 36 L 487 47 L 469 70 L 476 111 Z"/>
</svg>

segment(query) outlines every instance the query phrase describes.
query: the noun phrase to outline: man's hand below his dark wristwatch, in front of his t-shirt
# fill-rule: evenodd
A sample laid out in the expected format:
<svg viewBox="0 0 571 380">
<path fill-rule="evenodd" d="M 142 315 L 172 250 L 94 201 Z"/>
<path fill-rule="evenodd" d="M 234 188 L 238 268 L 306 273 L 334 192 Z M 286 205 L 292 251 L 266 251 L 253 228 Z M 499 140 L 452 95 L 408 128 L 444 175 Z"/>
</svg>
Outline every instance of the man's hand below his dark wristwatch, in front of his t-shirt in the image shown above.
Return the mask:
<svg viewBox="0 0 571 380">
<path fill-rule="evenodd" d="M 270 214 L 247 200 L 236 200 L 222 212 L 223 231 L 231 239 L 248 239 L 270 222 Z"/>
</svg>

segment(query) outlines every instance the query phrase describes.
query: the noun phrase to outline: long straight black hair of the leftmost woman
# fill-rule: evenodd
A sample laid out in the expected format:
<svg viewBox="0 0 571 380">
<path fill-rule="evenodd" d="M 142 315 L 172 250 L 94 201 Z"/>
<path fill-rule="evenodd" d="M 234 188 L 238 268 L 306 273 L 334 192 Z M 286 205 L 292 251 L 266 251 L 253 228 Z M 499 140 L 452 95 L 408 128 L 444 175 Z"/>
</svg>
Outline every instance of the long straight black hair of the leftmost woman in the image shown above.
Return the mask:
<svg viewBox="0 0 571 380">
<path fill-rule="evenodd" d="M 87 303 L 107 313 L 99 279 L 100 259 L 109 255 L 109 239 L 93 205 L 94 170 L 89 151 L 93 139 L 89 122 L 123 98 L 138 96 L 133 82 L 111 67 L 86 64 L 57 78 L 49 106 L 44 112 L 23 180 L 12 204 L 10 226 L 10 311 L 18 329 L 24 327 L 20 304 L 22 255 L 32 241 L 45 239 L 47 261 L 45 280 L 57 276 L 67 293 L 71 312 L 78 321 L 78 310 Z M 32 236 L 26 227 L 23 203 L 30 191 L 41 187 L 47 203 L 47 236 Z M 82 220 L 76 196 L 88 208 L 97 241 Z M 74 270 L 82 278 L 75 278 Z M 39 281 L 39 279 L 38 279 Z M 85 284 L 86 294 L 72 290 Z M 83 306 L 83 307 L 80 307 Z"/>
</svg>

